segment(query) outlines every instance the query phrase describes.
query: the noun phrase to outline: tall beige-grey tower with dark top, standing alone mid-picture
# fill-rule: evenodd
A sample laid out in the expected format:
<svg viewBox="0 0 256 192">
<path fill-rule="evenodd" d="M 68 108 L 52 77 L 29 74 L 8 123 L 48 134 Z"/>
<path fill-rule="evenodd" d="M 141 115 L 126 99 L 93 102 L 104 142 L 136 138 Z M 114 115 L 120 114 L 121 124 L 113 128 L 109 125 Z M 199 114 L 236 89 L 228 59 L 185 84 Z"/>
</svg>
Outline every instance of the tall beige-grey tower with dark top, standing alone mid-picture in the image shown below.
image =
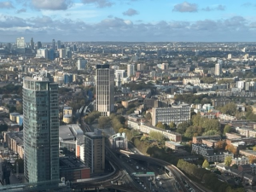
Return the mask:
<svg viewBox="0 0 256 192">
<path fill-rule="evenodd" d="M 102 116 L 109 116 L 114 109 L 113 79 L 113 69 L 109 65 L 96 65 L 96 111 Z"/>
</svg>

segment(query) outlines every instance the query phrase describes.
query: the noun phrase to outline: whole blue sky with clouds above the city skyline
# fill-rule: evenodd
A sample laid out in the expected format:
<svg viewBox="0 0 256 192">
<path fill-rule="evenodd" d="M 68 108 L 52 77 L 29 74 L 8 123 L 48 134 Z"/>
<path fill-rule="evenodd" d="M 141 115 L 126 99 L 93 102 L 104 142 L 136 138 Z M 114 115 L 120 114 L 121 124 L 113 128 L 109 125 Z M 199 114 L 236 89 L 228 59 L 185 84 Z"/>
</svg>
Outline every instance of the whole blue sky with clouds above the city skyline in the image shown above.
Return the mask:
<svg viewBox="0 0 256 192">
<path fill-rule="evenodd" d="M 0 0 L 0 42 L 255 42 L 255 0 Z"/>
</svg>

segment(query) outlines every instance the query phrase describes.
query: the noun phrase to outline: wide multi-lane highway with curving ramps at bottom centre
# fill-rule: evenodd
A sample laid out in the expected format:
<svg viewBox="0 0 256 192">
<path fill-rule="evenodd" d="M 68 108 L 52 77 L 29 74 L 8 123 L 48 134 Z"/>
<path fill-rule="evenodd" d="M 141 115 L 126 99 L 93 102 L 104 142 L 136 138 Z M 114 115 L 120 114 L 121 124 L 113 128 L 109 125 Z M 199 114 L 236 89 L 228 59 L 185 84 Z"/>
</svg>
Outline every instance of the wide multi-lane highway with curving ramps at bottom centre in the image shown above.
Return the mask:
<svg viewBox="0 0 256 192">
<path fill-rule="evenodd" d="M 84 123 L 84 119 L 80 121 L 82 129 L 84 131 L 91 131 L 90 126 L 86 125 Z M 102 130 L 104 131 L 104 130 Z M 107 135 L 111 132 L 110 130 L 104 131 Z M 113 183 L 113 181 L 122 180 L 124 182 L 124 185 L 127 186 L 125 191 L 159 191 L 159 192 L 167 192 L 167 191 L 184 191 L 189 192 L 191 191 L 190 188 L 194 189 L 195 192 L 211 192 L 211 190 L 208 189 L 202 189 L 201 186 L 199 186 L 197 183 L 194 183 L 191 181 L 188 177 L 186 177 L 183 172 L 181 172 L 179 169 L 177 169 L 176 166 L 173 166 L 172 164 L 167 163 L 166 161 L 155 159 L 152 157 L 145 156 L 141 154 L 137 148 L 135 148 L 131 143 L 129 143 L 129 148 L 131 148 L 131 152 L 125 152 L 125 151 L 116 151 L 112 150 L 111 148 L 108 148 L 106 146 L 106 157 L 108 157 L 108 160 L 112 162 L 119 172 L 115 172 L 113 176 L 109 177 L 108 179 L 104 179 L 104 182 L 99 183 L 91 183 L 91 185 L 95 184 L 95 186 L 104 186 L 107 187 L 108 185 L 111 185 L 110 183 Z M 115 153 L 115 154 L 114 154 Z M 116 154 L 122 154 L 121 156 L 117 157 Z M 126 159 L 128 157 L 128 159 Z M 121 158 L 121 160 L 119 159 Z M 134 160 L 133 166 L 129 164 L 130 158 Z M 146 165 L 150 166 L 144 166 L 143 167 L 148 169 L 148 172 L 156 172 L 154 170 L 154 166 L 162 167 L 163 173 L 166 172 L 166 174 L 160 174 L 161 175 L 161 183 L 160 181 L 156 181 L 154 183 L 148 181 L 148 178 L 143 177 L 137 179 L 136 177 L 132 176 L 132 172 L 137 172 L 137 168 L 135 167 L 136 162 L 135 161 L 144 161 L 147 162 Z M 128 162 L 127 162 L 128 161 Z M 141 166 L 142 167 L 142 166 Z M 151 170 L 150 170 L 151 169 Z M 145 171 L 145 170 L 143 170 Z M 171 177 L 170 177 L 171 176 Z M 139 181 L 138 181 L 139 180 Z M 185 183 L 188 183 L 189 187 L 185 187 Z M 82 183 L 80 183 L 81 186 L 83 186 Z M 113 184 L 112 184 L 113 185 Z M 134 190 L 136 189 L 136 190 Z M 190 189 L 190 190 L 189 190 Z"/>
</svg>

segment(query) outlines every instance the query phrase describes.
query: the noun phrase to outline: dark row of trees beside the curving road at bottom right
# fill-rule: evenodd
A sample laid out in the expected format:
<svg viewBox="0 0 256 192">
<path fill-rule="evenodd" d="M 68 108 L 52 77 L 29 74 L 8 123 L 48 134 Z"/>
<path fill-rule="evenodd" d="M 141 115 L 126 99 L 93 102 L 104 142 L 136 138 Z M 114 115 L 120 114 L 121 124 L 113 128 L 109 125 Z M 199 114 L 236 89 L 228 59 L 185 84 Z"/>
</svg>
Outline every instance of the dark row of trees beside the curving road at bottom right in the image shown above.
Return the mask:
<svg viewBox="0 0 256 192">
<path fill-rule="evenodd" d="M 208 166 L 207 163 L 205 166 Z M 208 189 L 213 192 L 244 192 L 243 188 L 232 189 L 228 183 L 223 183 L 218 180 L 218 177 L 213 172 L 209 172 L 204 168 L 199 168 L 195 164 L 191 164 L 185 160 L 178 160 L 177 167 L 185 172 L 189 177 L 195 177 L 202 183 L 205 183 Z"/>
</svg>

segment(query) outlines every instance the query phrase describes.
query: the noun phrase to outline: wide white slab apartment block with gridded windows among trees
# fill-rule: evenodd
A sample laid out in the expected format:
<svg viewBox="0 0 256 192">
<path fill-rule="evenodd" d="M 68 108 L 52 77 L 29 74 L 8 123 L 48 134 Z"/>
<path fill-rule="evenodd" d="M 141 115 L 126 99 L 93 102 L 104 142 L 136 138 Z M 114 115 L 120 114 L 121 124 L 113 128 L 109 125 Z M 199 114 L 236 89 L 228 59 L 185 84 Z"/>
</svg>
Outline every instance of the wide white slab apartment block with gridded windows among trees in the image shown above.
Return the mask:
<svg viewBox="0 0 256 192">
<path fill-rule="evenodd" d="M 190 119 L 189 104 L 181 104 L 170 108 L 152 108 L 152 125 L 158 122 L 170 124 L 174 122 L 176 125 Z"/>
</svg>

